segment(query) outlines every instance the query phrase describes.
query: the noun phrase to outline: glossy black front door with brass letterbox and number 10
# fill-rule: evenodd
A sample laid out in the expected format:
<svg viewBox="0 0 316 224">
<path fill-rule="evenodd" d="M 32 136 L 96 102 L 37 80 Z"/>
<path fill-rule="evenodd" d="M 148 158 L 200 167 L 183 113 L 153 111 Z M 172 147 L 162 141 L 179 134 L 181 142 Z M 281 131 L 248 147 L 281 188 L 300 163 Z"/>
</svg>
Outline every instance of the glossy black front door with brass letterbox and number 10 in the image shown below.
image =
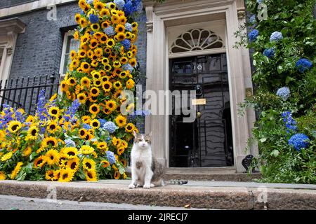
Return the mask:
<svg viewBox="0 0 316 224">
<path fill-rule="evenodd" d="M 170 60 L 170 86 L 196 90 L 196 119 L 170 116 L 170 167 L 233 166 L 232 122 L 226 54 Z M 175 102 L 172 99 L 173 109 Z M 192 99 L 189 99 L 192 104 Z M 190 105 L 189 103 L 189 105 Z"/>
</svg>

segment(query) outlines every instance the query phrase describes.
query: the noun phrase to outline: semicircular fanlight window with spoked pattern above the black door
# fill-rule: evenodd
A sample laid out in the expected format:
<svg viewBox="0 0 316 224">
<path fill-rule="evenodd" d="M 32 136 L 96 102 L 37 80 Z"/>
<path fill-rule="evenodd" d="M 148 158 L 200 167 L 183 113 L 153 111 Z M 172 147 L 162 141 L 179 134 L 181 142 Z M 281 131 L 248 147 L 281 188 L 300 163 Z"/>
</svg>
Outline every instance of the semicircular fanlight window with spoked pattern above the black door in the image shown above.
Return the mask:
<svg viewBox="0 0 316 224">
<path fill-rule="evenodd" d="M 173 41 L 169 53 L 224 48 L 222 38 L 208 29 L 190 29 Z"/>
</svg>

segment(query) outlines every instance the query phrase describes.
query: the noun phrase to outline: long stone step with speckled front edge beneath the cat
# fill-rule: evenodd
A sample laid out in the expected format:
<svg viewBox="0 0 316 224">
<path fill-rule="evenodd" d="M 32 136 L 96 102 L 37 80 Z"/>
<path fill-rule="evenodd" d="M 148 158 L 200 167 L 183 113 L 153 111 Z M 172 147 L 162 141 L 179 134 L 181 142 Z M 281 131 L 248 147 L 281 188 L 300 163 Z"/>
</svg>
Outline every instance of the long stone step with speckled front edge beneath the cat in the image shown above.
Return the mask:
<svg viewBox="0 0 316 224">
<path fill-rule="evenodd" d="M 193 209 L 316 209 L 316 185 L 189 181 L 180 186 L 129 189 L 129 183 L 130 180 L 0 181 L 0 195 L 157 208 L 190 205 Z"/>
</svg>

